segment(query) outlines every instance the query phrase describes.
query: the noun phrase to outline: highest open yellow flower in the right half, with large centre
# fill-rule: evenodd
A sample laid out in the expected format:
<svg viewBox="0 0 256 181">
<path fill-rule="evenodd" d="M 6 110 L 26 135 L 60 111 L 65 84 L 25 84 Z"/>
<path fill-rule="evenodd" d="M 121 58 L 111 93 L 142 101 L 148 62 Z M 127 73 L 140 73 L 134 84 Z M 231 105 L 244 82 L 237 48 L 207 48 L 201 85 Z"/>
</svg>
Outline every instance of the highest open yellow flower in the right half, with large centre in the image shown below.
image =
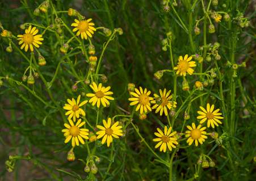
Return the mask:
<svg viewBox="0 0 256 181">
<path fill-rule="evenodd" d="M 176 74 L 186 76 L 186 72 L 188 72 L 189 75 L 192 75 L 194 72 L 194 69 L 191 67 L 195 67 L 195 61 L 191 61 L 192 57 L 188 57 L 188 55 L 184 56 L 184 59 L 182 56 L 179 56 L 179 62 L 176 67 L 174 67 L 174 70 L 177 70 Z M 191 62 L 190 62 L 191 61 Z"/>
</svg>

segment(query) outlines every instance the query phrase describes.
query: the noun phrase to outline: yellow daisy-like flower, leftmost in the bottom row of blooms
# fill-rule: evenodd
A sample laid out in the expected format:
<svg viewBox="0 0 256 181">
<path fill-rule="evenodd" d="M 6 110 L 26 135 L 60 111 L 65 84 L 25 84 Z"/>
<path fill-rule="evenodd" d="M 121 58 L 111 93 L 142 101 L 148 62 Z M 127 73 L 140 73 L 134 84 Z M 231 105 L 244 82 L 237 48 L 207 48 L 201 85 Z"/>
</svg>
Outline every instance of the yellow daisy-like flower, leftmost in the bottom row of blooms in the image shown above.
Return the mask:
<svg viewBox="0 0 256 181">
<path fill-rule="evenodd" d="M 69 119 L 69 124 L 65 123 L 64 126 L 66 129 L 63 129 L 64 136 L 66 137 L 65 143 L 68 143 L 72 139 L 72 146 L 79 146 L 79 142 L 85 144 L 83 139 L 88 140 L 89 130 L 85 128 L 80 128 L 85 124 L 85 122 L 81 122 L 81 119 L 78 119 L 77 124 Z"/>
</svg>

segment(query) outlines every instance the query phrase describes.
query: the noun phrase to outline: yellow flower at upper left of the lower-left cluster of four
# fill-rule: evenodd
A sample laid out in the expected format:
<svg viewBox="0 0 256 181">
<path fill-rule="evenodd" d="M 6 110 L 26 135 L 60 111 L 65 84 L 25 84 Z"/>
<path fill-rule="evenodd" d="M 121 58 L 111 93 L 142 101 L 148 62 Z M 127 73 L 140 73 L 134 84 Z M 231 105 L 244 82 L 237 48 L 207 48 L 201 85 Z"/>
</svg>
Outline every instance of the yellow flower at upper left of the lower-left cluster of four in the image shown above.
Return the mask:
<svg viewBox="0 0 256 181">
<path fill-rule="evenodd" d="M 65 110 L 68 110 L 65 115 L 69 115 L 68 119 L 71 119 L 73 117 L 74 122 L 75 118 L 79 118 L 80 114 L 85 116 L 85 111 L 80 107 L 85 105 L 88 101 L 83 101 L 79 104 L 80 98 L 81 95 L 78 96 L 77 101 L 75 101 L 74 98 L 72 98 L 72 100 L 68 98 L 68 104 L 65 104 L 65 106 L 63 107 Z"/>
</svg>

